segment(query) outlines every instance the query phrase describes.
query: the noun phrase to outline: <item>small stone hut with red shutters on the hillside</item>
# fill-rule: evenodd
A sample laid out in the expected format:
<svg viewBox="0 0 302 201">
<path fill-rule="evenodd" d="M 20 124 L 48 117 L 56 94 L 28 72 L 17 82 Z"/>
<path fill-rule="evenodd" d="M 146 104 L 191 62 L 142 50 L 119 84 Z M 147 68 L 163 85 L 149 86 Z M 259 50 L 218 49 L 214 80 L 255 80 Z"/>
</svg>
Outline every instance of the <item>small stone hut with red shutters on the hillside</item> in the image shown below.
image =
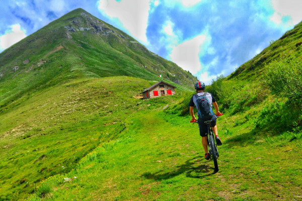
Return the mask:
<svg viewBox="0 0 302 201">
<path fill-rule="evenodd" d="M 160 97 L 163 95 L 174 95 L 176 86 L 164 81 L 160 81 L 141 92 L 143 99 Z"/>
</svg>

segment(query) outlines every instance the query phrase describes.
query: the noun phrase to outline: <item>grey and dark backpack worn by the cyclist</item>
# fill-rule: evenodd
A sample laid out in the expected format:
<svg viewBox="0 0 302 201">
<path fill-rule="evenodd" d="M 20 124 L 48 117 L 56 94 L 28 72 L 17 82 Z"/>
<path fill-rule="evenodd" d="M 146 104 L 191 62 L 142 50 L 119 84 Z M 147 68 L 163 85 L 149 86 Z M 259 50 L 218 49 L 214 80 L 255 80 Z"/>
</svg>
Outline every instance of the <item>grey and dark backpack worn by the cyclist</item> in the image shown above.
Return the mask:
<svg viewBox="0 0 302 201">
<path fill-rule="evenodd" d="M 204 121 L 211 120 L 213 117 L 212 107 L 209 104 L 206 94 L 207 92 L 204 92 L 201 96 L 197 95 L 197 93 L 194 94 L 196 97 L 198 118 Z"/>
</svg>

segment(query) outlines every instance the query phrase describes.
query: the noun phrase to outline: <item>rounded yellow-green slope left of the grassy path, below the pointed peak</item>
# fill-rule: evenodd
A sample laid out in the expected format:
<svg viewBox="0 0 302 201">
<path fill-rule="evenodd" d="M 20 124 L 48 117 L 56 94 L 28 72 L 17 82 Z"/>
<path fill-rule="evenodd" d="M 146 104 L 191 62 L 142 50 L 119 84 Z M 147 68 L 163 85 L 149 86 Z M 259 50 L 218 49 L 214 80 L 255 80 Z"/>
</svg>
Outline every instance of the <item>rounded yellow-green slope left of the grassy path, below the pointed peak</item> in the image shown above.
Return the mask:
<svg viewBox="0 0 302 201">
<path fill-rule="evenodd" d="M 126 118 L 148 108 L 133 96 L 152 84 L 125 76 L 77 79 L 0 114 L 0 197 L 34 192 L 34 183 L 70 171 L 96 146 L 117 138 Z"/>
</svg>

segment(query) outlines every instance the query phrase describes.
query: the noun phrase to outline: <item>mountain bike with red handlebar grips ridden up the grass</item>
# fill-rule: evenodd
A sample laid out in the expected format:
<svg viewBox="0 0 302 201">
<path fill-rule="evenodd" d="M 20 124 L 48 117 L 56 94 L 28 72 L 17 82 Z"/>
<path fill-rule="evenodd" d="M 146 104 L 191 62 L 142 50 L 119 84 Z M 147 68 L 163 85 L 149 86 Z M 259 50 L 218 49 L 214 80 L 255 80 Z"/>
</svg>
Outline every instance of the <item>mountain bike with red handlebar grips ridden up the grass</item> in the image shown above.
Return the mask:
<svg viewBox="0 0 302 201">
<path fill-rule="evenodd" d="M 221 116 L 221 115 L 219 115 L 219 116 Z M 219 116 L 216 116 L 216 117 L 218 118 Z M 219 157 L 219 153 L 218 153 L 217 145 L 215 144 L 215 140 L 214 140 L 214 132 L 212 131 L 212 128 L 210 127 L 211 122 L 212 122 L 212 120 L 204 122 L 208 127 L 208 131 L 207 131 L 207 144 L 208 144 L 208 149 L 209 149 L 208 153 L 210 155 L 210 159 L 213 158 L 215 172 L 218 172 L 219 169 L 218 169 L 217 158 Z M 193 123 L 197 123 L 197 121 L 194 121 Z"/>
</svg>

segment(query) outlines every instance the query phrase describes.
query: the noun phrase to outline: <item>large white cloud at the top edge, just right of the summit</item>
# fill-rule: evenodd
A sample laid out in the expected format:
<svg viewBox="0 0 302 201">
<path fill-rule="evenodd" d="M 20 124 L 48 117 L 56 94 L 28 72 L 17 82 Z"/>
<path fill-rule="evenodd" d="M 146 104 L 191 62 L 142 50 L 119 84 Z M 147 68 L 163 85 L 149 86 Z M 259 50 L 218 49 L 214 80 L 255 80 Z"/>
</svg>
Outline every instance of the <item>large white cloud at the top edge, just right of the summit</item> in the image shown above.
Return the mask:
<svg viewBox="0 0 302 201">
<path fill-rule="evenodd" d="M 147 43 L 148 0 L 100 0 L 98 8 L 108 17 L 117 18 L 133 37 Z"/>
</svg>

